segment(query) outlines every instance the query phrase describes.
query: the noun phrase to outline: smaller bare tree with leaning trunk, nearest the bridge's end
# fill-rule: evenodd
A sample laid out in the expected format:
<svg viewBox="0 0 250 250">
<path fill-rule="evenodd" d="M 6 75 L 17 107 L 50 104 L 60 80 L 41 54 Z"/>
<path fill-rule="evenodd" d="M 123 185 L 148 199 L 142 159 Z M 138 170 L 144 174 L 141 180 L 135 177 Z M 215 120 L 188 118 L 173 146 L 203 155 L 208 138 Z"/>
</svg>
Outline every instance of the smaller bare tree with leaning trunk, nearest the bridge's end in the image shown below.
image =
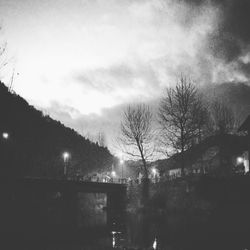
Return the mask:
<svg viewBox="0 0 250 250">
<path fill-rule="evenodd" d="M 123 151 L 135 159 L 141 159 L 144 178 L 148 178 L 147 160 L 153 154 L 152 113 L 149 106 L 128 106 L 123 113 L 121 137 Z"/>
</svg>

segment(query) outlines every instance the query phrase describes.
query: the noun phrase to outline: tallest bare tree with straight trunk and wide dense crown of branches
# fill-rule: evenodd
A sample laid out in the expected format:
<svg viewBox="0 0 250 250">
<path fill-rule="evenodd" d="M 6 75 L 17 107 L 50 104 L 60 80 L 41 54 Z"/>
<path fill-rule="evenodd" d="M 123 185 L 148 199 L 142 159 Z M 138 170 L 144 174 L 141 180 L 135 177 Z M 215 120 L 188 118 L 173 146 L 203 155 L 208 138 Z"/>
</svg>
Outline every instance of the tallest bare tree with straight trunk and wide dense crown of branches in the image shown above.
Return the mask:
<svg viewBox="0 0 250 250">
<path fill-rule="evenodd" d="M 175 87 L 168 88 L 159 108 L 161 144 L 165 152 L 183 153 L 202 133 L 206 112 L 195 85 L 181 76 Z"/>
</svg>

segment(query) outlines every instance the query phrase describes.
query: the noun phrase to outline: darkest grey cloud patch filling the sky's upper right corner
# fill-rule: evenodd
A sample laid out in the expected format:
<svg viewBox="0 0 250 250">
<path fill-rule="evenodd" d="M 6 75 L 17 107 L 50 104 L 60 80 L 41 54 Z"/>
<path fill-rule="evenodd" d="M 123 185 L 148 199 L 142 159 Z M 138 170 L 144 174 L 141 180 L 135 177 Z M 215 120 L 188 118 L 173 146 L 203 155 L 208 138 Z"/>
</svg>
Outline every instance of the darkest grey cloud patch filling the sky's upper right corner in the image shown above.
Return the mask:
<svg viewBox="0 0 250 250">
<path fill-rule="evenodd" d="M 250 43 L 249 0 L 180 0 L 195 8 L 212 4 L 220 9 L 217 30 L 208 41 L 213 54 L 226 62 L 238 59 Z"/>
</svg>

